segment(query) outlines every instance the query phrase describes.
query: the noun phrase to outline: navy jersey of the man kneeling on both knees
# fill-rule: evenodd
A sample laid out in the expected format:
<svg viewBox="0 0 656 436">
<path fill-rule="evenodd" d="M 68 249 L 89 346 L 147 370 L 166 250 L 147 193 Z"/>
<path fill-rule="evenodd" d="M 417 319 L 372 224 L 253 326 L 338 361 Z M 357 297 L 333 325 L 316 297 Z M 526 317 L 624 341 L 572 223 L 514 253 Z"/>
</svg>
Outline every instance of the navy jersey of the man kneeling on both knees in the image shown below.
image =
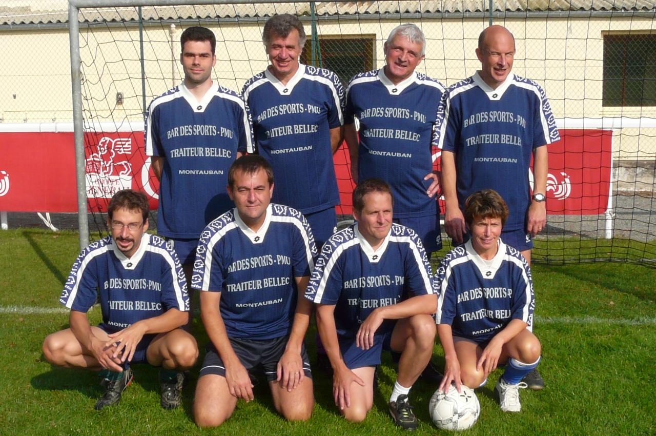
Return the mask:
<svg viewBox="0 0 656 436">
<path fill-rule="evenodd" d="M 233 209 L 201 234 L 192 287 L 221 293 L 228 337 L 279 338 L 291 331 L 295 277 L 310 275 L 316 251 L 310 226 L 297 210 L 270 204 L 254 232 Z"/>
</svg>

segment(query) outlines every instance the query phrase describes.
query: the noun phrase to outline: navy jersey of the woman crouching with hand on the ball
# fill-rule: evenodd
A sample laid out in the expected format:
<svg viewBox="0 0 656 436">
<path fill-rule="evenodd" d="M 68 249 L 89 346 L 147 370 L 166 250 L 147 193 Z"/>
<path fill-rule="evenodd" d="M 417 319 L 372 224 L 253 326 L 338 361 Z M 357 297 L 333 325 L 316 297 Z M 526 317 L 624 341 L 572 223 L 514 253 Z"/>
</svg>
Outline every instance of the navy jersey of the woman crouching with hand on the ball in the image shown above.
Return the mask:
<svg viewBox="0 0 656 436">
<path fill-rule="evenodd" d="M 485 342 L 511 320 L 533 324 L 531 269 L 520 254 L 499 240 L 491 261 L 468 241 L 449 251 L 436 273 L 437 324 L 450 324 L 453 336 Z"/>
</svg>

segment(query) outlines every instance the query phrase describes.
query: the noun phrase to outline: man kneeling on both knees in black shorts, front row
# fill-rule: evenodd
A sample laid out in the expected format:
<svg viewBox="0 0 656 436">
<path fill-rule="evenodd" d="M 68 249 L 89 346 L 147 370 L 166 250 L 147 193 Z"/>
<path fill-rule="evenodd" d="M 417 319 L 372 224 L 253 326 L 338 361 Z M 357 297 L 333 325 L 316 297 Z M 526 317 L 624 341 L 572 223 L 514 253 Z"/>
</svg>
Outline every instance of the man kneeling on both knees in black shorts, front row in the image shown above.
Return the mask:
<svg viewBox="0 0 656 436">
<path fill-rule="evenodd" d="M 274 175 L 262 156 L 242 156 L 228 171 L 236 208 L 201 234 L 192 286 L 210 342 L 194 400 L 200 427 L 232 415 L 237 399 L 253 399 L 251 370 L 269 381 L 276 410 L 308 420 L 314 408 L 303 337 L 312 303 L 302 297 L 316 246 L 296 209 L 271 204 Z"/>
</svg>

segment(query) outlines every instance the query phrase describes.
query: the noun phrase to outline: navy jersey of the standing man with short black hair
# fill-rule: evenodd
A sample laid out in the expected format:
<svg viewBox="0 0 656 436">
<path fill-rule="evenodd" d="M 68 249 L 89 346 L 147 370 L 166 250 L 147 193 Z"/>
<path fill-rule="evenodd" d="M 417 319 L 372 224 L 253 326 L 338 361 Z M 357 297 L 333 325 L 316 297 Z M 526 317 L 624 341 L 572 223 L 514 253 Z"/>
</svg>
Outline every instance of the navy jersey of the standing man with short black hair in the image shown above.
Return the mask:
<svg viewBox="0 0 656 436">
<path fill-rule="evenodd" d="M 163 156 L 157 232 L 197 238 L 234 206 L 226 186 L 237 151 L 252 152 L 251 121 L 234 91 L 213 85 L 198 102 L 184 83 L 155 98 L 146 118 L 146 154 Z"/>
</svg>

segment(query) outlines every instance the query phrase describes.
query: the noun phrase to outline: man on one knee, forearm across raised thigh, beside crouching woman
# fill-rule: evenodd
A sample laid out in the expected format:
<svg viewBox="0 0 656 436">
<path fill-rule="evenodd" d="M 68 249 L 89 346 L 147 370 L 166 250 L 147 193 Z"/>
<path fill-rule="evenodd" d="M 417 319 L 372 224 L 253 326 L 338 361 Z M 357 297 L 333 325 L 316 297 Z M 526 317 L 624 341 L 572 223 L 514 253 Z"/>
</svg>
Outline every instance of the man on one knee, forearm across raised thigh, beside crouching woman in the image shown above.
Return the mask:
<svg viewBox="0 0 656 436">
<path fill-rule="evenodd" d="M 401 353 L 390 398 L 397 425 L 417 427 L 407 395 L 426 368 L 435 339 L 437 298 L 421 240 L 392 223 L 392 190 L 369 179 L 353 191 L 356 223 L 323 245 L 305 296 L 317 306 L 321 341 L 333 366 L 333 395 L 344 417 L 365 419 L 373 405 L 382 349 Z"/>
</svg>

